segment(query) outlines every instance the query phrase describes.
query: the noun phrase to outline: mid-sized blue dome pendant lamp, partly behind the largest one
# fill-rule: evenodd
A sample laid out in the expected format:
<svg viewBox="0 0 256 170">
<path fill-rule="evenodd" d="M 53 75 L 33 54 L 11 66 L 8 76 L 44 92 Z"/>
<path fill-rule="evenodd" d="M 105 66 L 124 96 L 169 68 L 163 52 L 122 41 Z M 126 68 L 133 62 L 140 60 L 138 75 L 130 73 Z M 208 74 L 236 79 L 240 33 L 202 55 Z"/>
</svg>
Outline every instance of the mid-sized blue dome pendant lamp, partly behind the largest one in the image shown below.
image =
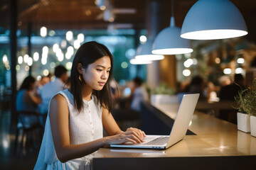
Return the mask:
<svg viewBox="0 0 256 170">
<path fill-rule="evenodd" d="M 179 55 L 193 52 L 189 40 L 181 38 L 181 28 L 175 26 L 174 3 L 171 1 L 171 23 L 154 40 L 152 53 L 158 55 Z"/>
</svg>

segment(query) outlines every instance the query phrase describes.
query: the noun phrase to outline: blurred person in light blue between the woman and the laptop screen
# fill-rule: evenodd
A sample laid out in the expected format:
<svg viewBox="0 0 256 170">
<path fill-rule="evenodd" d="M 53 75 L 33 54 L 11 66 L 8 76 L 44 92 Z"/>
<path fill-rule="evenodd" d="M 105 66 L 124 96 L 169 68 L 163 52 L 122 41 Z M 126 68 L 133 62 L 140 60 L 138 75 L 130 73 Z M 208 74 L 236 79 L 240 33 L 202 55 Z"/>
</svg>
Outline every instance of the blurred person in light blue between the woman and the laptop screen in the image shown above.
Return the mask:
<svg viewBox="0 0 256 170">
<path fill-rule="evenodd" d="M 135 77 L 131 81 L 131 96 L 132 96 L 132 102 L 131 102 L 131 108 L 134 111 L 141 111 L 141 104 L 143 101 L 148 101 L 149 96 L 146 92 L 146 89 L 144 89 L 144 86 L 142 86 L 143 81 L 139 77 Z"/>
</svg>

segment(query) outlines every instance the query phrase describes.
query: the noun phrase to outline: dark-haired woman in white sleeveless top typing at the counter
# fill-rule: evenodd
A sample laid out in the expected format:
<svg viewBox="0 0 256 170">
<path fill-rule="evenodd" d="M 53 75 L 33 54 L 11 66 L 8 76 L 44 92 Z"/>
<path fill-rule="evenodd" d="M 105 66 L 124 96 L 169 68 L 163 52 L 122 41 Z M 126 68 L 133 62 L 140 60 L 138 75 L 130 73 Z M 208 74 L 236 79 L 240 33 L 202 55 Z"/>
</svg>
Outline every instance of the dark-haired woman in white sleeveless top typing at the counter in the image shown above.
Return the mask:
<svg viewBox="0 0 256 170">
<path fill-rule="evenodd" d="M 94 152 L 103 145 L 140 143 L 144 132 L 123 132 L 112 114 L 113 57 L 97 42 L 86 42 L 75 55 L 70 89 L 50 101 L 46 130 L 34 169 L 91 169 Z M 103 128 L 109 136 L 102 137 Z"/>
</svg>

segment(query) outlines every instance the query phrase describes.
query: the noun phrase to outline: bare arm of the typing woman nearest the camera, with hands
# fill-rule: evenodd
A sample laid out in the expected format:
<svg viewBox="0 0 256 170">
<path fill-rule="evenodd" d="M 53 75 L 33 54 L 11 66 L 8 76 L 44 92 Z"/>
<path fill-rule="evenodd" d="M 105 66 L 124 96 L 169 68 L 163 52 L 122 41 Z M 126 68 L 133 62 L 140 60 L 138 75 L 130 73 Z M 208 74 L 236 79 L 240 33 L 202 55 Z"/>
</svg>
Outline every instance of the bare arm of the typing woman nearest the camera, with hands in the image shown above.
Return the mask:
<svg viewBox="0 0 256 170">
<path fill-rule="evenodd" d="M 84 157 L 87 154 L 95 152 L 103 145 L 110 145 L 112 143 L 123 143 L 123 142 L 141 142 L 137 130 L 127 130 L 127 132 L 112 130 L 113 128 L 107 128 L 110 133 L 117 132 L 118 135 L 103 137 L 99 140 L 87 142 L 80 145 L 70 145 L 70 134 L 69 134 L 69 120 L 68 120 L 68 103 L 63 96 L 60 94 L 53 97 L 50 101 L 50 128 L 53 135 L 53 143 L 55 151 L 60 162 L 67 162 L 70 159 Z M 111 117 L 107 119 L 105 125 L 109 126 L 112 122 Z M 114 120 L 114 119 L 113 119 Z M 113 123 L 113 122 L 112 122 Z"/>
</svg>

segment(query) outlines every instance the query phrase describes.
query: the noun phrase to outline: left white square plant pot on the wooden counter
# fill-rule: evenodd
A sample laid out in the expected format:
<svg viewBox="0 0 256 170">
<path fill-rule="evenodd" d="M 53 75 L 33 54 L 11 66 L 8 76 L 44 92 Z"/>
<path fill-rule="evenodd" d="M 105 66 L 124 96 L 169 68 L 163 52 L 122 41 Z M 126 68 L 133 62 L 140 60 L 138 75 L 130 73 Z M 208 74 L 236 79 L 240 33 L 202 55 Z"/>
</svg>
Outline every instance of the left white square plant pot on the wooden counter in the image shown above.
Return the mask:
<svg viewBox="0 0 256 170">
<path fill-rule="evenodd" d="M 250 132 L 250 116 L 245 113 L 238 113 L 238 130 Z"/>
</svg>

